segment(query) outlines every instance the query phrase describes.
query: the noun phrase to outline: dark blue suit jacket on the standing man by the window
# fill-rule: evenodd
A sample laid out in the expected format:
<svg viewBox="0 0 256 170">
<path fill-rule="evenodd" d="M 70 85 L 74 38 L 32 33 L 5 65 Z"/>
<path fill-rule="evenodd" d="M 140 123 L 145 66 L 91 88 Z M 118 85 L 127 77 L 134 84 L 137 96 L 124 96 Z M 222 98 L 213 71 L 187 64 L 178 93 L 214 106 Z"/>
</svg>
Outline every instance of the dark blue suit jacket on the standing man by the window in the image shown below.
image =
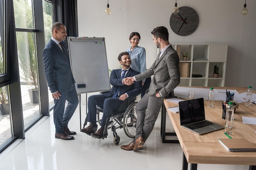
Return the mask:
<svg viewBox="0 0 256 170">
<path fill-rule="evenodd" d="M 62 42 L 68 57 L 52 39 L 46 44 L 43 50 L 45 76 L 52 93 L 69 90 L 75 83 L 70 68 L 67 45 L 65 41 Z"/>
</svg>

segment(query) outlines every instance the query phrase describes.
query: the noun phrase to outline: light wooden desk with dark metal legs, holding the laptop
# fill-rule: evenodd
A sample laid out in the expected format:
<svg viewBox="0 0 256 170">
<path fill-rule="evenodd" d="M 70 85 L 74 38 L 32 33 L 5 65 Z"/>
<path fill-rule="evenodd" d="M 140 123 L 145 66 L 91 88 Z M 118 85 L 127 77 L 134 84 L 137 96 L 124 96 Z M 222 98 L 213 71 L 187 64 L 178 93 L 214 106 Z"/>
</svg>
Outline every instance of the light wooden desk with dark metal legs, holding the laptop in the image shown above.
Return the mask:
<svg viewBox="0 0 256 170">
<path fill-rule="evenodd" d="M 222 89 L 223 87 L 214 88 Z M 247 88 L 240 87 L 228 87 L 227 89 L 236 89 L 238 93 L 243 93 L 247 90 Z M 164 100 L 164 105 L 165 107 L 162 107 L 162 118 L 164 117 L 164 113 L 166 113 L 166 108 L 177 106 L 178 104 Z M 215 100 L 214 107 L 209 108 L 207 107 L 207 100 L 204 100 L 204 108 L 205 118 L 207 120 L 225 126 L 225 120 L 222 119 L 222 101 Z M 197 135 L 180 126 L 179 113 L 173 113 L 171 111 L 167 111 L 167 113 L 184 152 L 183 170 L 187 170 L 188 163 L 192 163 L 191 170 L 196 170 L 198 163 L 250 165 L 249 170 L 256 170 L 256 152 L 229 152 L 220 144 L 218 141 L 219 138 L 227 138 L 224 134 L 224 129 L 204 135 Z M 245 102 L 239 103 L 239 109 L 236 109 L 235 112 L 233 133 L 230 136 L 232 138 L 246 138 L 256 145 L 256 125 L 243 124 L 242 116 L 255 118 L 256 105 L 252 104 L 252 106 L 248 107 L 245 105 Z M 161 127 L 161 134 L 164 135 L 166 132 L 162 129 L 165 129 L 165 120 L 162 120 L 162 122 L 164 122 L 162 123 L 164 127 Z M 162 139 L 165 139 L 165 136 Z"/>
</svg>

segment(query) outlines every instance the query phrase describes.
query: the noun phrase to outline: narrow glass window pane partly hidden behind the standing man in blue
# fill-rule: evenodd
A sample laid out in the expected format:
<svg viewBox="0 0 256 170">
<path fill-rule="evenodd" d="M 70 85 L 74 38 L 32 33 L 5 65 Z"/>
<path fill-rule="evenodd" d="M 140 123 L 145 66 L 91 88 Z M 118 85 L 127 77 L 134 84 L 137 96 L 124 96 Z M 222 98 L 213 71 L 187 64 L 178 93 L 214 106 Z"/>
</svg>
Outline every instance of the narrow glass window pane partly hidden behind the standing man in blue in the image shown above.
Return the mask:
<svg viewBox="0 0 256 170">
<path fill-rule="evenodd" d="M 45 31 L 45 44 L 47 44 L 52 37 L 52 24 L 53 24 L 53 4 L 47 0 L 43 0 L 43 20 Z M 48 88 L 49 89 L 49 88 Z M 50 90 L 49 92 L 49 106 L 54 104 L 54 99 Z"/>
</svg>

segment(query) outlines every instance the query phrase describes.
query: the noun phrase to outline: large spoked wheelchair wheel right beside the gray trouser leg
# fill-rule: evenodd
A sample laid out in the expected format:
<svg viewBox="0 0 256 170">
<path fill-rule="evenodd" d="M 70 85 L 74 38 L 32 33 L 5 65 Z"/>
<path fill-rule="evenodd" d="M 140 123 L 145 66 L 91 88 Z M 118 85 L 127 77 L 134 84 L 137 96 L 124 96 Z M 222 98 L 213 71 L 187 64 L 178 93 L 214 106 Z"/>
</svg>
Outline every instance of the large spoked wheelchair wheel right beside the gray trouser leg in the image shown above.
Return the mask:
<svg viewBox="0 0 256 170">
<path fill-rule="evenodd" d="M 137 114 L 136 107 L 137 102 L 132 103 L 124 113 L 124 133 L 130 137 L 134 138 L 136 135 L 136 122 L 137 122 Z"/>
</svg>

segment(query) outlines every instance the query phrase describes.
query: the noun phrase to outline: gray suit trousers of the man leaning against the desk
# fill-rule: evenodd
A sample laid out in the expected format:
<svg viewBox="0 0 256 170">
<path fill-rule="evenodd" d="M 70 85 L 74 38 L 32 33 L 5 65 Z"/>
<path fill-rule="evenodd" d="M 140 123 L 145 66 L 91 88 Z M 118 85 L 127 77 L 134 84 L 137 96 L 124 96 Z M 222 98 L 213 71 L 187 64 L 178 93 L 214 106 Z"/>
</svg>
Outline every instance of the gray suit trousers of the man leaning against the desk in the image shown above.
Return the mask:
<svg viewBox="0 0 256 170">
<path fill-rule="evenodd" d="M 152 132 L 159 111 L 162 107 L 164 99 L 157 98 L 155 95 L 148 96 L 148 92 L 139 100 L 136 105 L 137 122 L 136 122 L 136 135 L 133 143 L 139 137 L 143 137 L 144 142 Z M 147 109 L 147 110 L 146 110 Z M 145 111 L 146 110 L 146 111 Z"/>
</svg>

